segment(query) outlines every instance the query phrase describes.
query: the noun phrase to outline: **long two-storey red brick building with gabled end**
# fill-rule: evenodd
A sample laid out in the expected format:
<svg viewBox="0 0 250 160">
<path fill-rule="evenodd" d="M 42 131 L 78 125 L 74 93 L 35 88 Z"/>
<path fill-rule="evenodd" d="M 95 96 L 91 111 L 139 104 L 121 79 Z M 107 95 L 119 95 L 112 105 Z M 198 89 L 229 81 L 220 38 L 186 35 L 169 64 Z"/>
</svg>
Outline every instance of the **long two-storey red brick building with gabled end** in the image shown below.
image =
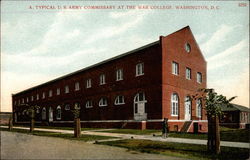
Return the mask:
<svg viewBox="0 0 250 160">
<path fill-rule="evenodd" d="M 207 131 L 201 100 L 206 61 L 187 26 L 159 40 L 96 65 L 13 94 L 16 123 L 28 121 L 25 105 L 38 105 L 37 122 L 72 125 L 80 108 L 83 127 L 162 128 Z M 193 125 L 195 124 L 195 125 Z M 198 127 L 197 127 L 198 126 Z"/>
</svg>

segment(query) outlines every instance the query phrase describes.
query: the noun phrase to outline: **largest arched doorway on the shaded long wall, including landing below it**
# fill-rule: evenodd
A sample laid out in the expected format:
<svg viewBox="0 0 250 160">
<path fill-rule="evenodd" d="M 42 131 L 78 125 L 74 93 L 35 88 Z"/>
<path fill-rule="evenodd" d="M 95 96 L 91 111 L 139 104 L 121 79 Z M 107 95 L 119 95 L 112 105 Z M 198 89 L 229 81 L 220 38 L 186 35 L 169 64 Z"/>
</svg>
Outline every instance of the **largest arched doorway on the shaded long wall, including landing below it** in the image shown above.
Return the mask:
<svg viewBox="0 0 250 160">
<path fill-rule="evenodd" d="M 144 92 L 139 92 L 134 97 L 134 119 L 135 120 L 146 120 L 147 113 L 145 110 L 147 100 Z"/>
</svg>

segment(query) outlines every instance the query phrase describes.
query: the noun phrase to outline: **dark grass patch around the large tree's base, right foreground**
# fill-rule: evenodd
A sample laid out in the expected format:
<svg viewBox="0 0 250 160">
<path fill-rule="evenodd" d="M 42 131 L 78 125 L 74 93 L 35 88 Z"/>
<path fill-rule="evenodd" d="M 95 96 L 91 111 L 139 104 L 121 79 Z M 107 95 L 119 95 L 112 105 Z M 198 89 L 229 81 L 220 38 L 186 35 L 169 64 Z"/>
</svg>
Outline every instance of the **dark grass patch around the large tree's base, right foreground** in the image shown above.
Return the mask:
<svg viewBox="0 0 250 160">
<path fill-rule="evenodd" d="M 205 145 L 156 142 L 149 140 L 119 140 L 97 142 L 97 144 L 117 146 L 140 152 L 163 154 L 190 159 L 237 160 L 247 159 L 249 157 L 248 149 L 221 147 L 221 154 L 215 156 L 207 152 L 207 148 Z"/>
</svg>

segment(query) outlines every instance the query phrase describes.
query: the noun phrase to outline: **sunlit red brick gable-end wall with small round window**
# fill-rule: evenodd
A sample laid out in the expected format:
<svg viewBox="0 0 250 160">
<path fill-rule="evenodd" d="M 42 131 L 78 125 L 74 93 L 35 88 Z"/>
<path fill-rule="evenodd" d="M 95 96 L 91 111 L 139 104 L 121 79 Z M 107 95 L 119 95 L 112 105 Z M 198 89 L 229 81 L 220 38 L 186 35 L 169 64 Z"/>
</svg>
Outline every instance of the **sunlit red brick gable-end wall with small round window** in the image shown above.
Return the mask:
<svg viewBox="0 0 250 160">
<path fill-rule="evenodd" d="M 177 31 L 167 37 L 161 37 L 162 43 L 162 105 L 163 117 L 170 119 L 184 119 L 185 97 L 194 95 L 199 88 L 206 88 L 206 61 L 192 35 L 189 27 Z M 191 45 L 191 52 L 186 52 L 184 45 Z M 179 64 L 179 75 L 172 74 L 172 62 Z M 191 80 L 186 79 L 186 67 L 191 68 Z M 197 82 L 197 72 L 202 73 L 202 83 Z M 171 116 L 171 95 L 179 96 L 179 116 Z M 192 103 L 192 119 L 196 118 L 196 102 Z M 202 119 L 206 119 L 202 112 Z"/>
</svg>

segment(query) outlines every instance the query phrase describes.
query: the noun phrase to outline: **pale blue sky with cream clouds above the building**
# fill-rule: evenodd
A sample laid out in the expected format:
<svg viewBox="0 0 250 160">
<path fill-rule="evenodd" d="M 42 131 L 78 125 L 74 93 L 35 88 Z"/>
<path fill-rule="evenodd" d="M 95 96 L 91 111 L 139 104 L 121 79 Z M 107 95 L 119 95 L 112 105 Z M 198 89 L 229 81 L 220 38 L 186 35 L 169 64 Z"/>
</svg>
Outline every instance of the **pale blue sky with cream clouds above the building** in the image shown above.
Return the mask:
<svg viewBox="0 0 250 160">
<path fill-rule="evenodd" d="M 11 94 L 185 26 L 207 61 L 208 88 L 249 107 L 248 13 L 248 1 L 1 1 L 0 111 L 12 110 Z"/>
</svg>

